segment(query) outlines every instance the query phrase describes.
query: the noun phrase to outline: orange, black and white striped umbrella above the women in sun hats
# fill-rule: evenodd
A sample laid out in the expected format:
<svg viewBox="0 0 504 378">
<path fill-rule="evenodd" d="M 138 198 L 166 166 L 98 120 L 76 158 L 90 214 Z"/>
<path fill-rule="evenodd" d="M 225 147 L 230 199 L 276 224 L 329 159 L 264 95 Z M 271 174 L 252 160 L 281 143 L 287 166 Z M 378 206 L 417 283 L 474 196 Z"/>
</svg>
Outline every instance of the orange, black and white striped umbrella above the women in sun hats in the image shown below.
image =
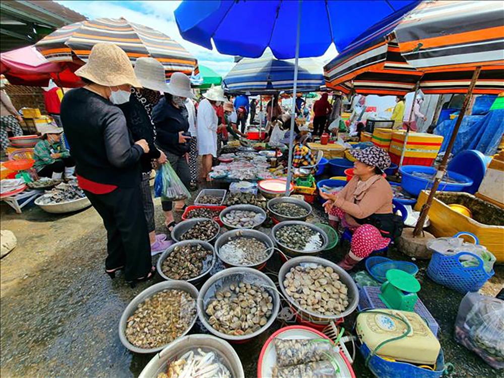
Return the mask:
<svg viewBox="0 0 504 378">
<path fill-rule="evenodd" d="M 98 42 L 114 43 L 130 57 L 133 65 L 139 57 L 159 60 L 169 80 L 174 72 L 191 75 L 198 72 L 198 61 L 167 35 L 123 18 L 100 18 L 64 26 L 35 44 L 47 60 L 86 62 Z M 84 63 L 83 63 L 84 64 Z"/>
</svg>

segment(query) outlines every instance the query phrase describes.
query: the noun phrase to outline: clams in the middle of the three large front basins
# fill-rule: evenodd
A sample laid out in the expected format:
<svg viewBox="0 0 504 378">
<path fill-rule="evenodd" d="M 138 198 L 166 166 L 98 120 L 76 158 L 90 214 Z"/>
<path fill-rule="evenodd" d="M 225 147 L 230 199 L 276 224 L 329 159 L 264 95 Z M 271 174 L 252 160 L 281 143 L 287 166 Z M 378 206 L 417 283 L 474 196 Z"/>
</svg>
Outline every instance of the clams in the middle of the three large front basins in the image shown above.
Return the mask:
<svg viewBox="0 0 504 378">
<path fill-rule="evenodd" d="M 234 336 L 261 329 L 268 323 L 272 310 L 273 297 L 267 290 L 243 282 L 218 290 L 205 308 L 213 329 Z"/>
</svg>

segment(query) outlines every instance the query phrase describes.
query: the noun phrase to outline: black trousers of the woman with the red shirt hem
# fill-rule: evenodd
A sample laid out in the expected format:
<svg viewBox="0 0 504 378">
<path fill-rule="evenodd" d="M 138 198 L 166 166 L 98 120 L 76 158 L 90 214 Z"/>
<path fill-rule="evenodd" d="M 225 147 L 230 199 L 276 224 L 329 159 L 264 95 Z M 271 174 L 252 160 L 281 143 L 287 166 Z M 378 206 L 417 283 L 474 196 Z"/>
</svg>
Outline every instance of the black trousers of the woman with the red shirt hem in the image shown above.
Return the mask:
<svg viewBox="0 0 504 378">
<path fill-rule="evenodd" d="M 123 266 L 127 281 L 147 276 L 152 267 L 151 245 L 140 185 L 118 187 L 107 194 L 84 193 L 107 230 L 105 269 Z"/>
</svg>

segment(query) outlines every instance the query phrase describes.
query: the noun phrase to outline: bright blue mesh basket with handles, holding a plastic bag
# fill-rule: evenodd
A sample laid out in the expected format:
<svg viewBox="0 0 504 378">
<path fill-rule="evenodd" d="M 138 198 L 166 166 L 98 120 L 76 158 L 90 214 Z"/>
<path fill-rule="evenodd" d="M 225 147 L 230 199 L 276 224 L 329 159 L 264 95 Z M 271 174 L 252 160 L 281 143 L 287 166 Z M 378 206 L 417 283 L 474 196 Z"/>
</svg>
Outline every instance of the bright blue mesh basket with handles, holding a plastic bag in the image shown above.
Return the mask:
<svg viewBox="0 0 504 378">
<path fill-rule="evenodd" d="M 460 258 L 464 255 L 476 259 L 479 265 L 477 267 L 464 267 L 460 262 Z M 453 256 L 446 256 L 434 251 L 427 267 L 427 276 L 432 281 L 457 290 L 462 294 L 468 291 L 478 291 L 493 274 L 493 269 L 491 272 L 485 271 L 483 260 L 479 256 L 469 252 L 459 252 Z"/>
</svg>

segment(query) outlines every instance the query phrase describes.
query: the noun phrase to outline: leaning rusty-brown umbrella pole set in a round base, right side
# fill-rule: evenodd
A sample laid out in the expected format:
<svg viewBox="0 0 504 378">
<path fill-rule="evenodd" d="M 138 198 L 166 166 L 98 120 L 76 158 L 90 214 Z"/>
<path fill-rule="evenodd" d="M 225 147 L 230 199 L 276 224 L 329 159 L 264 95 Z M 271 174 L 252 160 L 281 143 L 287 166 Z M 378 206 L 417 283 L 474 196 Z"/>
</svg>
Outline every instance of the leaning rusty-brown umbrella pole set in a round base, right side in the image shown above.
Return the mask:
<svg viewBox="0 0 504 378">
<path fill-rule="evenodd" d="M 460 109 L 460 114 L 457 117 L 457 121 L 455 122 L 455 128 L 453 129 L 452 136 L 450 138 L 450 142 L 448 143 L 448 147 L 445 151 L 445 156 L 443 156 L 443 160 L 437 168 L 436 177 L 434 179 L 434 183 L 432 184 L 432 188 L 429 193 L 429 197 L 427 198 L 427 202 L 422 206 L 422 210 L 420 211 L 420 217 L 415 225 L 415 230 L 413 231 L 413 236 L 419 236 L 423 229 L 423 224 L 425 223 L 425 219 L 427 218 L 427 214 L 430 209 L 430 205 L 432 205 L 432 201 L 434 200 L 434 196 L 437 191 L 437 187 L 439 186 L 439 182 L 443 179 L 445 175 L 445 169 L 448 163 L 448 157 L 452 152 L 453 145 L 455 144 L 455 139 L 457 139 L 457 133 L 459 132 L 460 125 L 462 124 L 462 119 L 464 118 L 464 114 L 466 113 L 467 107 L 471 102 L 472 92 L 474 90 L 474 86 L 476 85 L 476 81 L 478 80 L 479 73 L 481 71 L 481 67 L 476 67 L 474 71 L 471 84 L 469 85 L 469 89 L 467 90 L 466 97 L 464 98 L 464 102 L 462 103 L 462 109 Z"/>
</svg>

